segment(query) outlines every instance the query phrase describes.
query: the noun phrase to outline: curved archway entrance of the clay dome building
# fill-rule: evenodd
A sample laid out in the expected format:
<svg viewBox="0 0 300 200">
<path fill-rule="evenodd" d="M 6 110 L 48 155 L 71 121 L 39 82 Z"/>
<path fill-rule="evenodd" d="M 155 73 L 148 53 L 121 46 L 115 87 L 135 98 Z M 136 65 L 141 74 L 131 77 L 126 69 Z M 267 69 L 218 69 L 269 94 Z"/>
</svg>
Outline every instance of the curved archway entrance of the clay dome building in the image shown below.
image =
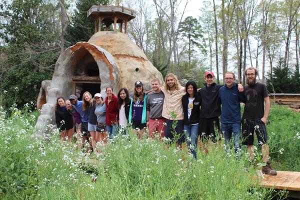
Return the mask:
<svg viewBox="0 0 300 200">
<path fill-rule="evenodd" d="M 89 42 L 77 42 L 68 49 L 72 53 L 70 71 L 74 93 L 79 96 L 82 90 L 86 90 L 85 87 L 91 88 L 91 93 L 95 93 L 96 86 L 93 84 L 99 84 L 102 92 L 107 86 L 118 89 L 119 72 L 109 52 Z"/>
</svg>

